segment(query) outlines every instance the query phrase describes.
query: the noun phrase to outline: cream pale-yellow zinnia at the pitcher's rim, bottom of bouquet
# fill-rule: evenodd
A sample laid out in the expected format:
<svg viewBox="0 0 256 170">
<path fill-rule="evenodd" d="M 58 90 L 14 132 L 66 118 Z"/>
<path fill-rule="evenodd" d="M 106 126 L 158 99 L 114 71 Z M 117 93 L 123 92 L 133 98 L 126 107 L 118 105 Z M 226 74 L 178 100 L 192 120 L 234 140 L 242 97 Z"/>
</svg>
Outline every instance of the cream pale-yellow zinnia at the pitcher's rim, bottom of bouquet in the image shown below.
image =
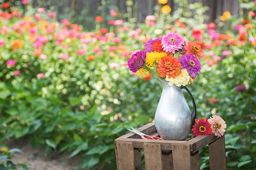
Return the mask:
<svg viewBox="0 0 256 170">
<path fill-rule="evenodd" d="M 185 86 L 188 84 L 190 76 L 188 75 L 187 69 L 182 69 L 179 76 L 175 78 L 168 78 L 168 76 L 166 76 L 165 80 L 169 81 L 170 86 L 176 85 L 177 87 L 180 87 L 181 85 Z"/>
</svg>

